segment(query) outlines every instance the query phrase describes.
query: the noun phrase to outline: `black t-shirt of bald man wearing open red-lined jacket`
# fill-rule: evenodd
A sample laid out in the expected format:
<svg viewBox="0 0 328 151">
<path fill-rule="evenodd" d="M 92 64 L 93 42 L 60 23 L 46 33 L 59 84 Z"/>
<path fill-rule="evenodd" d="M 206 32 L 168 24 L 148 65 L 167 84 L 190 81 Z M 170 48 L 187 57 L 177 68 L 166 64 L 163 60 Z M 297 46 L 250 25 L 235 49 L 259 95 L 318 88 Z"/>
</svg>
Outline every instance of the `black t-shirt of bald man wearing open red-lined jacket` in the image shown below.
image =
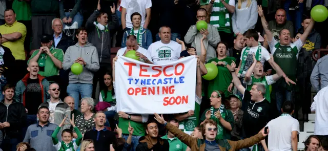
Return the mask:
<svg viewBox="0 0 328 151">
<path fill-rule="evenodd" d="M 25 90 L 25 107 L 29 115 L 37 113 L 39 105 L 42 103 L 42 90 L 39 79 L 27 79 Z"/>
</svg>

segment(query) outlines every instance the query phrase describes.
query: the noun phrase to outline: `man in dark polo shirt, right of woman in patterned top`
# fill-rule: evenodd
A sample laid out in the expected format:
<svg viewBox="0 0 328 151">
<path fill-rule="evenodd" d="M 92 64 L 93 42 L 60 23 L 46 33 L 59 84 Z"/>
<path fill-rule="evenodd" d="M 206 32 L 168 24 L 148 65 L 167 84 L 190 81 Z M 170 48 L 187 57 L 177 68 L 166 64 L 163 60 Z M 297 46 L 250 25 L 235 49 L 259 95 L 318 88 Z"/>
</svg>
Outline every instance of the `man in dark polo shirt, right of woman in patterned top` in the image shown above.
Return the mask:
<svg viewBox="0 0 328 151">
<path fill-rule="evenodd" d="M 110 144 L 116 140 L 115 134 L 108 131 L 105 127 L 106 115 L 103 111 L 96 113 L 94 122 L 96 127 L 84 134 L 83 140 L 92 139 L 94 142 L 95 150 L 108 151 Z"/>
</svg>

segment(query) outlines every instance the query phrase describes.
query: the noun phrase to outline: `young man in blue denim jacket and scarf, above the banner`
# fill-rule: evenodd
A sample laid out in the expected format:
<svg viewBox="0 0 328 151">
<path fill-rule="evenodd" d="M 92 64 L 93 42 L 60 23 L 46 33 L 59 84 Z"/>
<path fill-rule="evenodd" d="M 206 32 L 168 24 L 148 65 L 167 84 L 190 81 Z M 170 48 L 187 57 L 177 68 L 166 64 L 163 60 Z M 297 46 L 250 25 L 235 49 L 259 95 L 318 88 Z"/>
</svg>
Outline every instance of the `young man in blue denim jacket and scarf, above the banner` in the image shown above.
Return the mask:
<svg viewBox="0 0 328 151">
<path fill-rule="evenodd" d="M 127 46 L 127 37 L 135 35 L 137 37 L 138 45 L 142 48 L 148 49 L 150 44 L 153 43 L 152 33 L 148 29 L 141 27 L 141 15 L 138 12 L 131 14 L 131 21 L 133 28 L 124 32 L 121 47 Z"/>
</svg>

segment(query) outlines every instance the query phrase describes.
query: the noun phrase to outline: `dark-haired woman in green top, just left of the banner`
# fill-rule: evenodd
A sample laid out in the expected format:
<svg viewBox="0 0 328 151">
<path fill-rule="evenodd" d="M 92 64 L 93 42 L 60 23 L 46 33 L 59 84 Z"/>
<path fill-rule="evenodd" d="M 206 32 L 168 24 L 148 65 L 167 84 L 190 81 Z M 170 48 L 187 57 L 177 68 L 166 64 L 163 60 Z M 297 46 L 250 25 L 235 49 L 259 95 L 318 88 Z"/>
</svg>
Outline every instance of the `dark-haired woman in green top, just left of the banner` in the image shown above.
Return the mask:
<svg viewBox="0 0 328 151">
<path fill-rule="evenodd" d="M 96 109 L 104 111 L 107 121 L 110 122 L 112 130 L 115 128 L 115 122 L 113 121 L 116 114 L 116 98 L 113 87 L 113 78 L 111 72 L 106 72 L 104 75 L 104 83 L 106 88 L 100 91 L 99 102 L 96 105 Z"/>
</svg>

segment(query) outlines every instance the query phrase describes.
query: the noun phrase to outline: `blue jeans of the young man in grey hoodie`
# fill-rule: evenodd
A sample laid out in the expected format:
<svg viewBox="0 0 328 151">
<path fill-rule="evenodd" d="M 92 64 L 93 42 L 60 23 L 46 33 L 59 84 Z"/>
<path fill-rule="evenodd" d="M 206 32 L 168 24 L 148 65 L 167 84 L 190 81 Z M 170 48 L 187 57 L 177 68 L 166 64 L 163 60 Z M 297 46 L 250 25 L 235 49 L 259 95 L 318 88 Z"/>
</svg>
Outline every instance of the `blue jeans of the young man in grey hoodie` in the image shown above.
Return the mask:
<svg viewBox="0 0 328 151">
<path fill-rule="evenodd" d="M 74 109 L 78 110 L 79 96 L 88 98 L 92 96 L 92 84 L 89 83 L 69 83 L 67 94 L 74 98 Z"/>
</svg>

